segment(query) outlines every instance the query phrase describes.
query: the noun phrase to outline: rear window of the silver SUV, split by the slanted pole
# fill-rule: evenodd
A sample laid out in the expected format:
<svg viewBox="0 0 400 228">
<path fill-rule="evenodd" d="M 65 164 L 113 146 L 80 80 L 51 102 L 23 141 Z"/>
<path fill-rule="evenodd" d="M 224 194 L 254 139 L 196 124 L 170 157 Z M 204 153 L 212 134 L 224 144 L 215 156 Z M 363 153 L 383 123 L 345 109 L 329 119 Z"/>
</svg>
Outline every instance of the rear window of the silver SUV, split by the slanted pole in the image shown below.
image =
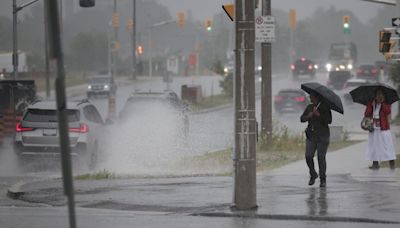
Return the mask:
<svg viewBox="0 0 400 228">
<path fill-rule="evenodd" d="M 79 111 L 78 110 L 67 110 L 68 122 L 78 122 L 79 121 Z M 57 110 L 44 110 L 44 109 L 28 109 L 24 121 L 28 122 L 57 122 Z"/>
</svg>

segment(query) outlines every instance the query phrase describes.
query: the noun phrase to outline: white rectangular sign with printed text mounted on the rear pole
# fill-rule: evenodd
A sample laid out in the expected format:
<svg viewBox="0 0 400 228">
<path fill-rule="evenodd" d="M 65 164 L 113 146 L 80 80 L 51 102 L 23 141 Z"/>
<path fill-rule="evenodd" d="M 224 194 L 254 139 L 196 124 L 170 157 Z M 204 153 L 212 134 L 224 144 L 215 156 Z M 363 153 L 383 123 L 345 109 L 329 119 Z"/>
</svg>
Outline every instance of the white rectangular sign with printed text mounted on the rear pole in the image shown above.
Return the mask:
<svg viewBox="0 0 400 228">
<path fill-rule="evenodd" d="M 275 42 L 275 18 L 272 16 L 257 16 L 255 18 L 256 42 Z"/>
</svg>

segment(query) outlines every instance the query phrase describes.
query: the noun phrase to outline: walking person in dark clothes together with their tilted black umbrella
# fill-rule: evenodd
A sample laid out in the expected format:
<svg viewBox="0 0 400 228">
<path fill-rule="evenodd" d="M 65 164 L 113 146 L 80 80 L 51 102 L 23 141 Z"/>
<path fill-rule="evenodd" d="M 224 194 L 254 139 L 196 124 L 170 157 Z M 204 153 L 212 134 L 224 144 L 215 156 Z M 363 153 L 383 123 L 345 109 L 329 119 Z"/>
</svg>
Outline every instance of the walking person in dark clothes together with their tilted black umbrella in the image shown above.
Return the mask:
<svg viewBox="0 0 400 228">
<path fill-rule="evenodd" d="M 343 104 L 338 95 L 319 83 L 304 83 L 301 89 L 310 94 L 311 100 L 300 117 L 302 123 L 308 122 L 305 131 L 305 158 L 310 173 L 308 185 L 314 185 L 318 178 L 314 168 L 314 155 L 317 151 L 320 187 L 326 187 L 326 152 L 330 137 L 329 124 L 332 123 L 331 110 L 343 114 Z"/>
</svg>

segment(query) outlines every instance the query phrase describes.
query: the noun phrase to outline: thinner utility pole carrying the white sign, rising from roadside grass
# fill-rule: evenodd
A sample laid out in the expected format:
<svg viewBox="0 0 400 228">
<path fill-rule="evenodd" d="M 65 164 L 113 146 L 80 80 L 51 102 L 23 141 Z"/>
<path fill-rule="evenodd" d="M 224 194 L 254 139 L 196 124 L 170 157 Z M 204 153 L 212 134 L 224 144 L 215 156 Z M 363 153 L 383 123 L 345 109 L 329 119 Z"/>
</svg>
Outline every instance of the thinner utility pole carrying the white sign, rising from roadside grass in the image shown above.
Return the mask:
<svg viewBox="0 0 400 228">
<path fill-rule="evenodd" d="M 262 15 L 271 15 L 271 0 L 262 1 Z M 261 44 L 261 137 L 272 143 L 272 71 L 271 43 Z"/>
</svg>

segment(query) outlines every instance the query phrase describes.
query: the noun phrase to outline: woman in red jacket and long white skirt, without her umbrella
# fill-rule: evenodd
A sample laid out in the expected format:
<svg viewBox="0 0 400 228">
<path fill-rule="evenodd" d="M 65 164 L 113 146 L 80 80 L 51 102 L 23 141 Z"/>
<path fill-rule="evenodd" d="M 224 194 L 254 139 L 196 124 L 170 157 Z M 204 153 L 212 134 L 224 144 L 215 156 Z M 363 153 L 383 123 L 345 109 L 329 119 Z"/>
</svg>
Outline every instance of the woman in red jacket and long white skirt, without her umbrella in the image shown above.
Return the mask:
<svg viewBox="0 0 400 228">
<path fill-rule="evenodd" d="M 372 117 L 374 130 L 369 133 L 367 159 L 372 161 L 370 169 L 379 169 L 379 161 L 389 161 L 391 169 L 395 168 L 392 134 L 390 133 L 391 105 L 385 102 L 382 90 L 377 90 L 375 99 L 367 104 L 365 117 Z"/>
</svg>

